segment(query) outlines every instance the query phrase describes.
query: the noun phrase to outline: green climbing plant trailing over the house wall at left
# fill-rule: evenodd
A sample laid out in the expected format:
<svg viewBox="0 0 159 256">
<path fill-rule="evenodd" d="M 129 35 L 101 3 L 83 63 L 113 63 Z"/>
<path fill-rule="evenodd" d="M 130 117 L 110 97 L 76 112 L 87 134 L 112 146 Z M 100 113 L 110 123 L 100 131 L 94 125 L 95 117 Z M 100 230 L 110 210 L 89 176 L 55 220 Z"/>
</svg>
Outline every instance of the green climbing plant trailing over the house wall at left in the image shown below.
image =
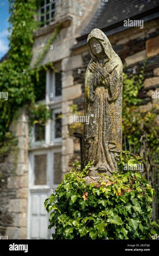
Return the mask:
<svg viewBox="0 0 159 256">
<path fill-rule="evenodd" d="M 27 106 L 28 110 L 31 110 L 32 119 L 34 117 L 40 123 L 45 123 L 50 116 L 45 105 L 35 104 L 34 78 L 38 80 L 38 72 L 41 68 L 50 66 L 54 69 L 52 63 L 43 67 L 39 67 L 39 63 L 46 54 L 48 45 L 59 33 L 60 26 L 53 31 L 31 69 L 33 32 L 38 28 L 38 22 L 35 20 L 36 10 L 36 0 L 9 0 L 8 59 L 0 63 L 0 91 L 8 93 L 8 100 L 0 100 L 0 153 L 8 151 L 11 145 L 16 145 L 14 136 L 9 132 L 9 125 L 21 107 Z"/>
</svg>

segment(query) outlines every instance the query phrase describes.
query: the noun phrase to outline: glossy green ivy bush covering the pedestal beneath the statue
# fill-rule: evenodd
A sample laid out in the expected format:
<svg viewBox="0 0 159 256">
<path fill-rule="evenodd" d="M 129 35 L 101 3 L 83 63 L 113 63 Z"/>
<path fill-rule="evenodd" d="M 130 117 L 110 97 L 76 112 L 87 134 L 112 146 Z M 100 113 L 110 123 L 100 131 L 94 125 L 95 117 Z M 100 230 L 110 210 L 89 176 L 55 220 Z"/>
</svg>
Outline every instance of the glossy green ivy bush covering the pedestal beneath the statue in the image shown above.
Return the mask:
<svg viewBox="0 0 159 256">
<path fill-rule="evenodd" d="M 56 226 L 54 239 L 154 239 L 154 190 L 139 172 L 114 172 L 87 185 L 91 162 L 83 172 L 79 162 L 74 166 L 44 202 L 49 229 Z"/>
</svg>

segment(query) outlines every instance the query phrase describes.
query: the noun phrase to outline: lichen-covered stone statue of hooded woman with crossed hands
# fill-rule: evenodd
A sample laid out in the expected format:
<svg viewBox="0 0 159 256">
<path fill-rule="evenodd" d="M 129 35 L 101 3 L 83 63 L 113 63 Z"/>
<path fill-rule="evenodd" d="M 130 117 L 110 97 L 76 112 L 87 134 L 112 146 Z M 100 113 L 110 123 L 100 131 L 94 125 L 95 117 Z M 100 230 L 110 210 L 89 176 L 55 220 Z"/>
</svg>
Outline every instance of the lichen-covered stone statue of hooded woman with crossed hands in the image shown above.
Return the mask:
<svg viewBox="0 0 159 256">
<path fill-rule="evenodd" d="M 118 170 L 122 150 L 122 62 L 106 35 L 93 29 L 88 35 L 92 57 L 85 76 L 84 165 L 89 175 L 111 175 Z"/>
</svg>

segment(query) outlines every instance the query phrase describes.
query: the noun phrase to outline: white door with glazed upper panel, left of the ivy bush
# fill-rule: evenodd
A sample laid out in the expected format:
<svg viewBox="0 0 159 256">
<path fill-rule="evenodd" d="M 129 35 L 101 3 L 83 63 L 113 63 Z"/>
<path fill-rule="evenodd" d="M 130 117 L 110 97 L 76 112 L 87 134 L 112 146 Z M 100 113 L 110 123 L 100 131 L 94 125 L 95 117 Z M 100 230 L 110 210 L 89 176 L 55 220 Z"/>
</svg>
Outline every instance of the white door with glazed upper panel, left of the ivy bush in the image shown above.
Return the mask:
<svg viewBox="0 0 159 256">
<path fill-rule="evenodd" d="M 44 201 L 55 192 L 55 156 L 59 150 L 46 149 L 30 153 L 29 198 L 28 198 L 28 239 L 50 239 L 53 230 L 48 230 L 49 215 Z M 61 159 L 59 159 L 61 161 Z"/>
</svg>

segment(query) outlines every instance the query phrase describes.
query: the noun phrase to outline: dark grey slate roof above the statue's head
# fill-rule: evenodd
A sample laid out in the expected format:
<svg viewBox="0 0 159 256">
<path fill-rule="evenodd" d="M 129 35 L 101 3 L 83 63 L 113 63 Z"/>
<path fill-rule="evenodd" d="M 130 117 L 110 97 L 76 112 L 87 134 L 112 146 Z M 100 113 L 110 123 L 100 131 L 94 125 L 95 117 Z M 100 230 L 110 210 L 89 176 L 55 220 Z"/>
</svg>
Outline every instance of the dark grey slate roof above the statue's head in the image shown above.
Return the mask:
<svg viewBox="0 0 159 256">
<path fill-rule="evenodd" d="M 123 21 L 143 19 L 144 22 L 159 17 L 158 0 L 101 0 L 99 8 L 91 22 L 76 38 L 78 43 L 73 48 L 86 44 L 88 34 L 94 28 L 107 31 L 107 35 L 120 32 L 129 27 L 123 26 Z"/>
</svg>

